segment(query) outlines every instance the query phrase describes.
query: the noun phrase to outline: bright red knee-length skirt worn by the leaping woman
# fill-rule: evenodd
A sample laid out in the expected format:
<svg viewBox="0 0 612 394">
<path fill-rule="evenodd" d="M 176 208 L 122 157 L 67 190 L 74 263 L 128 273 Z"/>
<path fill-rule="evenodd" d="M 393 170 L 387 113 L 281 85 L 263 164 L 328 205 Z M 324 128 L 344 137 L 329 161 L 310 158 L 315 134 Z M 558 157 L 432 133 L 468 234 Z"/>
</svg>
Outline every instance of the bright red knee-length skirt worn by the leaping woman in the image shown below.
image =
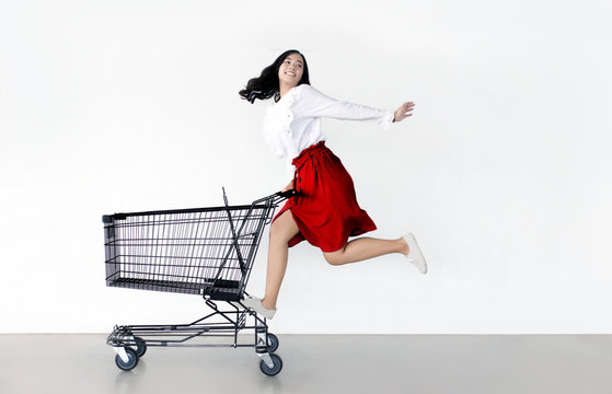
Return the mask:
<svg viewBox="0 0 612 394">
<path fill-rule="evenodd" d="M 323 252 L 336 252 L 349 236 L 377 229 L 357 204 L 353 178 L 324 141 L 304 149 L 292 164 L 298 195 L 289 198 L 274 218 L 291 211 L 300 232 L 289 240 L 289 246 L 307 240 Z"/>
</svg>

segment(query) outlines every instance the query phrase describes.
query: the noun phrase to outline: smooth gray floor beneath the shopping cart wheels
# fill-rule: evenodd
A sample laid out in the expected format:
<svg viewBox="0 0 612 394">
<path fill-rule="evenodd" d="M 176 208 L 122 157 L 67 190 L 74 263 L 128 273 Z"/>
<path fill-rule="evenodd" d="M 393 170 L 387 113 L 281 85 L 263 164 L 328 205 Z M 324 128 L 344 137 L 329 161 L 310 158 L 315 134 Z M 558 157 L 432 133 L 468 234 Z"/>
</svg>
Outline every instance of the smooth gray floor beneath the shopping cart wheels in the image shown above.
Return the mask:
<svg viewBox="0 0 612 394">
<path fill-rule="evenodd" d="M 0 335 L 0 393 L 612 393 L 612 336 L 280 335 L 252 349 L 149 348 L 122 372 L 104 335 Z"/>
</svg>

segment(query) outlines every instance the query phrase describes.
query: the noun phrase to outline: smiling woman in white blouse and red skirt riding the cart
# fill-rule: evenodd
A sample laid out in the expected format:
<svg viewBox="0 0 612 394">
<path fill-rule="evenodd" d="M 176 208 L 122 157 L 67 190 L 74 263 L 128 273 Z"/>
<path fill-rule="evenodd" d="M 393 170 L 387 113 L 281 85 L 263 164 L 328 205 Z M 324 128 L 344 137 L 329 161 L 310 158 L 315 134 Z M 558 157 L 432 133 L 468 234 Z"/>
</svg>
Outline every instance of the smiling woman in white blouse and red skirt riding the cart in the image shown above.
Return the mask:
<svg viewBox="0 0 612 394">
<path fill-rule="evenodd" d="M 321 118 L 368 120 L 388 128 L 412 116 L 413 102 L 395 113 L 340 102 L 310 85 L 308 63 L 298 50 L 287 50 L 249 81 L 240 93 L 254 103 L 274 96 L 264 121 L 264 135 L 278 158 L 289 160 L 291 181 L 282 190 L 296 189 L 270 225 L 266 291 L 263 299 L 247 298 L 244 305 L 264 317 L 276 313 L 276 301 L 287 268 L 288 247 L 307 240 L 323 252 L 327 263 L 342 265 L 402 253 L 423 274 L 427 264 L 415 237 L 397 240 L 355 236 L 377 227 L 357 204 L 350 175 L 325 147 Z"/>
</svg>

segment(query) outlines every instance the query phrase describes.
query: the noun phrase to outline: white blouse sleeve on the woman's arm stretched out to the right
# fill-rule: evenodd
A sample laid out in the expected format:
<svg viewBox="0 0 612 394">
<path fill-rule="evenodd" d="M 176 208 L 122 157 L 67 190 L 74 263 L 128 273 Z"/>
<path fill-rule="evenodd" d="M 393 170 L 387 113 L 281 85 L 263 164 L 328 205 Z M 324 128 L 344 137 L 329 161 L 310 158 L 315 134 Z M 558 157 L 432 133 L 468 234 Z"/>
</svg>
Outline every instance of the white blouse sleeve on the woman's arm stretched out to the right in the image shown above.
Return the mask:
<svg viewBox="0 0 612 394">
<path fill-rule="evenodd" d="M 372 108 L 365 105 L 343 102 L 321 93 L 311 85 L 300 88 L 299 99 L 296 100 L 293 111 L 303 117 L 327 117 L 340 120 L 366 120 L 381 125 L 388 129 L 393 121 L 394 114 L 390 111 Z"/>
</svg>

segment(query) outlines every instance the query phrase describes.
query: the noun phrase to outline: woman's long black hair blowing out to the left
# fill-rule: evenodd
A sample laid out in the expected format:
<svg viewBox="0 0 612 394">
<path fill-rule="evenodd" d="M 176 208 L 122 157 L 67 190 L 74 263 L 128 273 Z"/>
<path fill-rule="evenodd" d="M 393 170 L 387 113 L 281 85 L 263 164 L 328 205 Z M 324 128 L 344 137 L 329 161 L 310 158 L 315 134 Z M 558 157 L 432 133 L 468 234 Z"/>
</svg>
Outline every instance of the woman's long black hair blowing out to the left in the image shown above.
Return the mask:
<svg viewBox="0 0 612 394">
<path fill-rule="evenodd" d="M 300 80 L 298 85 L 301 85 L 302 83 L 310 84 L 305 57 L 297 49 L 289 49 L 282 53 L 282 55 L 280 55 L 278 58 L 276 58 L 276 60 L 272 65 L 266 67 L 258 78 L 250 79 L 246 83 L 246 86 L 238 92 L 238 94 L 240 94 L 242 99 L 250 101 L 251 104 L 253 104 L 256 99 L 267 100 L 272 96 L 274 96 L 275 102 L 279 101 L 280 88 L 278 85 L 278 69 L 280 68 L 280 65 L 282 65 L 285 59 L 287 59 L 287 57 L 292 54 L 298 54 L 302 57 L 302 59 L 304 59 L 302 79 Z"/>
</svg>

